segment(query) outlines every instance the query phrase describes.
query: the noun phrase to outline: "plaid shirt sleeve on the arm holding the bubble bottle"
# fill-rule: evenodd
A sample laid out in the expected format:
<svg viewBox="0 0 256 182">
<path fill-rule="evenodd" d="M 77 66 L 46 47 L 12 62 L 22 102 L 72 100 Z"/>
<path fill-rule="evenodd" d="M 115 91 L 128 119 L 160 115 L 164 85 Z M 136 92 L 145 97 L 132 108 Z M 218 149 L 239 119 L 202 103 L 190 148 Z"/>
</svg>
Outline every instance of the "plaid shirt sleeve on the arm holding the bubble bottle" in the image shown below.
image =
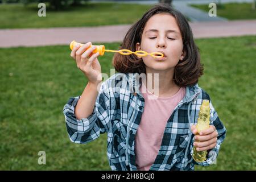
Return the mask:
<svg viewBox="0 0 256 182">
<path fill-rule="evenodd" d="M 196 162 L 195 160 L 192 160 L 192 163 L 196 165 L 209 166 L 211 164 L 216 164 L 221 143 L 224 141 L 226 137 L 226 128 L 221 122 L 220 118 L 218 117 L 218 114 L 212 105 L 212 101 L 210 101 L 210 125 L 214 125 L 216 127 L 216 130 L 218 131 L 217 145 L 211 150 L 209 150 L 207 155 L 207 160 L 205 160 L 204 162 Z M 193 154 L 194 140 L 195 140 L 195 137 L 192 139 L 192 142 L 191 142 L 191 156 Z"/>
</svg>

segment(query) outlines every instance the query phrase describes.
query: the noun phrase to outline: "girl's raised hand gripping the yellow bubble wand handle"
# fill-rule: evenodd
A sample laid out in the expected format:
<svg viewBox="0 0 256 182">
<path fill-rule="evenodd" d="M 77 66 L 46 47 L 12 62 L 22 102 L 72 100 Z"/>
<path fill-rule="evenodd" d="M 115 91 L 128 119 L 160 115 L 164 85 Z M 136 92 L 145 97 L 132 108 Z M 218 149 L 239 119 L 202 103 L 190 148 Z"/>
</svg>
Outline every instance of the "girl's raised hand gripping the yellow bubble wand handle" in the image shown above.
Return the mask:
<svg viewBox="0 0 256 182">
<path fill-rule="evenodd" d="M 93 53 L 93 50 L 96 47 L 92 46 L 88 48 L 90 45 L 92 45 L 91 42 L 88 42 L 81 47 L 76 45 L 71 51 L 71 57 L 76 60 L 77 68 L 84 73 L 89 82 L 97 85 L 102 81 L 101 65 L 97 59 L 100 53 Z"/>
</svg>

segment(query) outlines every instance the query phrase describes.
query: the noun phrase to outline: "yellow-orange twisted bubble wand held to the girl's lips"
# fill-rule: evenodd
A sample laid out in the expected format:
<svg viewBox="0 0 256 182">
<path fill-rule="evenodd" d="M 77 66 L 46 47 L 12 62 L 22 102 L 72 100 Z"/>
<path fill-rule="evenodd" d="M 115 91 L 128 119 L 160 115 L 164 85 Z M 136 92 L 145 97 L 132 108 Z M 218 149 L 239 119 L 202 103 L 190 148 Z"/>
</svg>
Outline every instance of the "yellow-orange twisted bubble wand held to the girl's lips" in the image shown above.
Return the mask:
<svg viewBox="0 0 256 182">
<path fill-rule="evenodd" d="M 84 45 L 84 44 L 78 43 L 75 40 L 73 40 L 70 43 L 70 46 L 69 46 L 70 49 L 72 50 L 73 47 L 76 46 L 76 44 L 79 44 L 79 46 Z M 93 45 L 90 45 L 88 48 L 90 48 L 92 46 Z M 118 50 L 118 51 L 114 51 L 114 50 L 105 49 L 104 45 L 96 46 L 96 49 L 93 50 L 93 53 L 96 53 L 96 52 L 99 52 L 101 56 L 103 56 L 105 52 L 118 52 L 121 55 L 130 55 L 130 54 L 134 53 L 135 55 L 140 56 L 140 57 L 150 55 L 150 56 L 155 57 L 155 58 L 160 58 L 160 57 L 164 56 L 163 53 L 161 53 L 161 52 L 151 52 L 151 53 L 147 53 L 146 51 L 135 51 L 135 52 L 133 52 L 133 51 L 130 51 L 129 49 L 121 49 L 121 50 Z"/>
</svg>

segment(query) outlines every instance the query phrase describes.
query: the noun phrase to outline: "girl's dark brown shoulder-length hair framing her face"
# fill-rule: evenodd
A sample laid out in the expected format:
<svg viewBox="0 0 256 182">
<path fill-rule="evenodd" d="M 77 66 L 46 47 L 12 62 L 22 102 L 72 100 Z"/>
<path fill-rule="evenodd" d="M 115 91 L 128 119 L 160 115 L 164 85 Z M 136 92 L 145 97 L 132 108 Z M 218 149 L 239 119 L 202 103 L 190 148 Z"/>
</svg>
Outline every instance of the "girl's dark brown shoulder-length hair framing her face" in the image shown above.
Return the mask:
<svg viewBox="0 0 256 182">
<path fill-rule="evenodd" d="M 174 81 L 179 86 L 191 86 L 198 82 L 199 77 L 203 75 L 203 64 L 200 63 L 199 48 L 193 40 L 191 27 L 187 19 L 179 11 L 173 9 L 171 6 L 158 4 L 148 10 L 141 19 L 138 20 L 127 31 L 125 38 L 119 49 L 130 49 L 136 51 L 136 43 L 141 43 L 142 32 L 148 19 L 155 14 L 169 13 L 177 21 L 180 28 L 182 40 L 184 59 L 179 60 L 174 70 Z M 141 58 L 131 54 L 123 56 L 115 53 L 112 62 L 115 70 L 121 73 L 146 73 L 145 64 Z"/>
</svg>

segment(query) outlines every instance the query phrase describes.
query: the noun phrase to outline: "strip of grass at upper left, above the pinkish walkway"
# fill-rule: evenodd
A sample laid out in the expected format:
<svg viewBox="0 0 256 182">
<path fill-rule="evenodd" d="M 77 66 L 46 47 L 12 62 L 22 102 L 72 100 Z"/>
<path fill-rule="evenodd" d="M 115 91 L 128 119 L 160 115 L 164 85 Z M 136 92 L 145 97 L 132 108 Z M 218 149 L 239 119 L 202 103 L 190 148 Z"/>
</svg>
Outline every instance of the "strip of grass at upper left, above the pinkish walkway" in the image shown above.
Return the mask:
<svg viewBox="0 0 256 182">
<path fill-rule="evenodd" d="M 90 3 L 63 11 L 46 8 L 46 17 L 38 16 L 37 4 L 0 5 L 0 28 L 89 27 L 131 24 L 138 20 L 150 5 L 121 3 Z"/>
</svg>

